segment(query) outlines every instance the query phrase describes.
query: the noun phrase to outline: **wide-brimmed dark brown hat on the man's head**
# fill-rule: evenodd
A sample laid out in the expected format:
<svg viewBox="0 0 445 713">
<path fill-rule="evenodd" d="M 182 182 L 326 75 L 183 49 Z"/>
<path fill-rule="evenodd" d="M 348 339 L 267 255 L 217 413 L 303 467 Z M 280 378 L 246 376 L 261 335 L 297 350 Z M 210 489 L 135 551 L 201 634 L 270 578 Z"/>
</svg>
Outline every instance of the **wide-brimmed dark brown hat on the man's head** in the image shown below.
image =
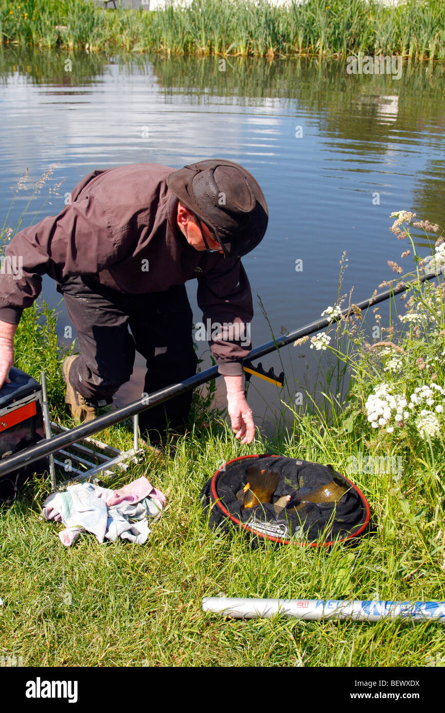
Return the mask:
<svg viewBox="0 0 445 713">
<path fill-rule="evenodd" d="M 233 161 L 210 158 L 184 166 L 167 185 L 215 235 L 225 255 L 241 257 L 261 242 L 267 203 L 255 178 Z"/>
</svg>

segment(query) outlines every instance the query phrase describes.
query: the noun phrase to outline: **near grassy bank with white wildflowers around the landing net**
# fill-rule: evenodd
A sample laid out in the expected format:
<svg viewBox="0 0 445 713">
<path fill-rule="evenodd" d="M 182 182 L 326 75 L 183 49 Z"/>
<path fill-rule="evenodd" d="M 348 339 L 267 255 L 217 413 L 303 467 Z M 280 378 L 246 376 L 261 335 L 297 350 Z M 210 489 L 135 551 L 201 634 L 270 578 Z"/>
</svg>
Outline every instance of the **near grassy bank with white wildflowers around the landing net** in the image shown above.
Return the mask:
<svg viewBox="0 0 445 713">
<path fill-rule="evenodd" d="M 393 230 L 404 240 L 401 263 L 414 258 L 414 269 L 390 265 L 398 282 L 415 279 L 422 268 L 409 233 L 416 219 L 404 213 L 396 219 Z M 421 227 L 433 250 L 436 241 L 440 247 L 440 231 Z M 332 313 L 354 301 L 342 295 L 345 265 L 343 259 Z M 444 627 L 431 623 L 239 621 L 201 611 L 201 598 L 218 593 L 445 599 L 445 309 L 438 282 L 418 284 L 404 301 L 394 299 L 392 324 L 380 324 L 378 307 L 366 314 L 356 310 L 354 317 L 332 322 L 323 339 L 299 344 L 298 351 L 319 347 L 317 390 L 325 394 L 324 406 L 314 406 L 305 394 L 305 406 L 292 406 L 293 429 L 275 440 L 258 438 L 240 447 L 217 413 L 205 414 L 208 400 L 196 399 L 195 424 L 205 416 L 210 428 L 196 425 L 190 436 L 172 441 L 164 461 L 147 452 L 145 462 L 107 481 L 116 488 L 145 474 L 165 492 L 168 508 L 142 547 L 121 540 L 100 545 L 93 535 L 82 535 L 73 548 L 63 548 L 61 525 L 39 519 L 48 481 L 30 483 L 19 500 L 0 510 L 0 657 L 22 657 L 34 666 L 136 667 L 405 667 L 441 657 Z M 51 336 L 53 318 L 43 317 L 25 311 L 16 364 L 37 378 L 46 367 L 51 410 L 61 415 L 57 363 L 63 350 Z M 345 403 L 337 399 L 339 381 L 347 386 Z M 125 426 L 101 438 L 131 446 Z M 237 533 L 230 539 L 210 531 L 200 488 L 218 463 L 242 453 L 280 453 L 349 473 L 369 500 L 374 532 L 355 548 L 328 551 L 268 543 L 250 550 Z"/>
</svg>

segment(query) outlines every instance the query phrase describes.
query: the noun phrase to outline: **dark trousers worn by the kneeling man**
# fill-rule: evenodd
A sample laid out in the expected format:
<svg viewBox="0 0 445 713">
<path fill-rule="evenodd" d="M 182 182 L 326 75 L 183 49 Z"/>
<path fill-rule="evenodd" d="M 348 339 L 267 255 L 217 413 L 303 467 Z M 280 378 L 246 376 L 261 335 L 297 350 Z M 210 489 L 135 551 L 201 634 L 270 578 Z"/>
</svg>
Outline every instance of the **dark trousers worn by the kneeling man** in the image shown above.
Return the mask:
<svg viewBox="0 0 445 713">
<path fill-rule="evenodd" d="M 146 359 L 146 394 L 196 373 L 193 314 L 184 285 L 165 292 L 122 294 L 86 277 L 70 277 L 57 289 L 81 350 L 71 366 L 70 382 L 91 405 L 103 400 L 111 404 L 119 386 L 130 379 L 136 351 Z M 140 431 L 153 437 L 168 424 L 177 428 L 186 423 L 192 395 L 189 390 L 143 411 Z"/>
</svg>

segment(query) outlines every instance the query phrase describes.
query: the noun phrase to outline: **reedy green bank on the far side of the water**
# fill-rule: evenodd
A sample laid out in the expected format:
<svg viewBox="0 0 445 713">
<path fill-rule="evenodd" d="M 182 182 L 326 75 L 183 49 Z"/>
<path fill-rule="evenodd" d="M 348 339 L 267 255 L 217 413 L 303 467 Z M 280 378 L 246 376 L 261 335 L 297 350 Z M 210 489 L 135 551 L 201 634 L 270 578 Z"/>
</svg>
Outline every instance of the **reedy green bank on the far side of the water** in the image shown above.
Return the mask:
<svg viewBox="0 0 445 713">
<path fill-rule="evenodd" d="M 373 0 L 258 2 L 193 0 L 162 11 L 103 9 L 88 0 L 0 0 L 4 43 L 89 51 L 179 54 L 347 56 L 399 54 L 445 58 L 440 0 L 385 7 Z"/>
</svg>

